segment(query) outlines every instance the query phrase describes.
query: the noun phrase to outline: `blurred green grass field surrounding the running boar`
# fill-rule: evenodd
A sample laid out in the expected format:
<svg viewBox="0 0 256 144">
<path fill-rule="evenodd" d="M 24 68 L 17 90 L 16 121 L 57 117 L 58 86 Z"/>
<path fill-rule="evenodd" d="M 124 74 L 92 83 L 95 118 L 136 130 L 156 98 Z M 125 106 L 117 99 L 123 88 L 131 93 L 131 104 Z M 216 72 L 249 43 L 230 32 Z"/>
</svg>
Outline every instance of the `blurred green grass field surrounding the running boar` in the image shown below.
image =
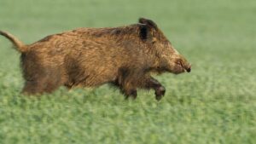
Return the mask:
<svg viewBox="0 0 256 144">
<path fill-rule="evenodd" d="M 256 1 L 1 0 L 0 29 L 25 43 L 77 27 L 160 26 L 192 72 L 157 76 L 166 96 L 61 88 L 20 95 L 20 54 L 0 37 L 0 143 L 256 143 Z"/>
</svg>

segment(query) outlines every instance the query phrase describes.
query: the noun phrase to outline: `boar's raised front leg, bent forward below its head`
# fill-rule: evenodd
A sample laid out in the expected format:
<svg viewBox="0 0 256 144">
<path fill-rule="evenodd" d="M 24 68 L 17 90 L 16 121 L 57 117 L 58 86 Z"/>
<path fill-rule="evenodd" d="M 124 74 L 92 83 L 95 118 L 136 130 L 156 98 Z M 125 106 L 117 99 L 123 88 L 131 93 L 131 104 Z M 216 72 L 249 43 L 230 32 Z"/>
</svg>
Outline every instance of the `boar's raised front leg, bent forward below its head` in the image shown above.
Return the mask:
<svg viewBox="0 0 256 144">
<path fill-rule="evenodd" d="M 160 101 L 160 99 L 165 95 L 166 89 L 160 84 L 160 82 L 152 77 L 145 78 L 143 88 L 154 89 L 155 99 Z"/>
</svg>

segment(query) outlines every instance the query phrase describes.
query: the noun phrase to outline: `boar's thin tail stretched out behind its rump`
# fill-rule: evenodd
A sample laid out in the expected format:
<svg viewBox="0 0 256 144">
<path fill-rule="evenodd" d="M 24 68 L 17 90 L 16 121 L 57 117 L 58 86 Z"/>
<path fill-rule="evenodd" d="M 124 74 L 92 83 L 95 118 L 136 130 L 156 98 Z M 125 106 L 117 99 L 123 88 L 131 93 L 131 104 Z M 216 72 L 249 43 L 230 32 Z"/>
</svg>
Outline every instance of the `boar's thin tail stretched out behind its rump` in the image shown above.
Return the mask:
<svg viewBox="0 0 256 144">
<path fill-rule="evenodd" d="M 22 43 L 18 38 L 10 34 L 9 32 L 0 31 L 0 35 L 7 37 L 12 43 L 14 43 L 15 48 L 20 51 L 20 53 L 26 52 L 26 45 Z"/>
</svg>

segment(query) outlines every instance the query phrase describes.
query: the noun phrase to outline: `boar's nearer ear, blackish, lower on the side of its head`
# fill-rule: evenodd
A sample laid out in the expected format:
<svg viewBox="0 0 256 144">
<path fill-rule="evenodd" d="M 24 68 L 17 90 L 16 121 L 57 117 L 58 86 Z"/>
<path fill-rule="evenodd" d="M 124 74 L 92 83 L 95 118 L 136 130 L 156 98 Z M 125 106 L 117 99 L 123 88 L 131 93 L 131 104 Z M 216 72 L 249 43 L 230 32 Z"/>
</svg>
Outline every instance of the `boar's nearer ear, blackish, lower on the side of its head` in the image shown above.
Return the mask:
<svg viewBox="0 0 256 144">
<path fill-rule="evenodd" d="M 155 41 L 153 29 L 148 25 L 145 25 L 145 24 L 139 25 L 139 35 L 144 42 L 154 43 Z"/>
</svg>

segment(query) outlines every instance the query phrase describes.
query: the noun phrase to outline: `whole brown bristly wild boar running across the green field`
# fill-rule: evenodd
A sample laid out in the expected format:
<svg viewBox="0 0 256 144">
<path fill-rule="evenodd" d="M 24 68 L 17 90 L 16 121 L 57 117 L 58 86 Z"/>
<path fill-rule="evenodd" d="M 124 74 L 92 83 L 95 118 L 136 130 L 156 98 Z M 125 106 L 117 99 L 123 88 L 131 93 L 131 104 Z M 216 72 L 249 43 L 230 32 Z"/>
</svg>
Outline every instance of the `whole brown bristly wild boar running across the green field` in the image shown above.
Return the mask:
<svg viewBox="0 0 256 144">
<path fill-rule="evenodd" d="M 166 89 L 150 74 L 191 69 L 154 21 L 144 18 L 130 26 L 79 28 L 27 45 L 8 32 L 0 34 L 21 53 L 25 95 L 50 93 L 61 85 L 113 84 L 133 99 L 137 89 L 154 89 L 159 101 Z"/>
</svg>

